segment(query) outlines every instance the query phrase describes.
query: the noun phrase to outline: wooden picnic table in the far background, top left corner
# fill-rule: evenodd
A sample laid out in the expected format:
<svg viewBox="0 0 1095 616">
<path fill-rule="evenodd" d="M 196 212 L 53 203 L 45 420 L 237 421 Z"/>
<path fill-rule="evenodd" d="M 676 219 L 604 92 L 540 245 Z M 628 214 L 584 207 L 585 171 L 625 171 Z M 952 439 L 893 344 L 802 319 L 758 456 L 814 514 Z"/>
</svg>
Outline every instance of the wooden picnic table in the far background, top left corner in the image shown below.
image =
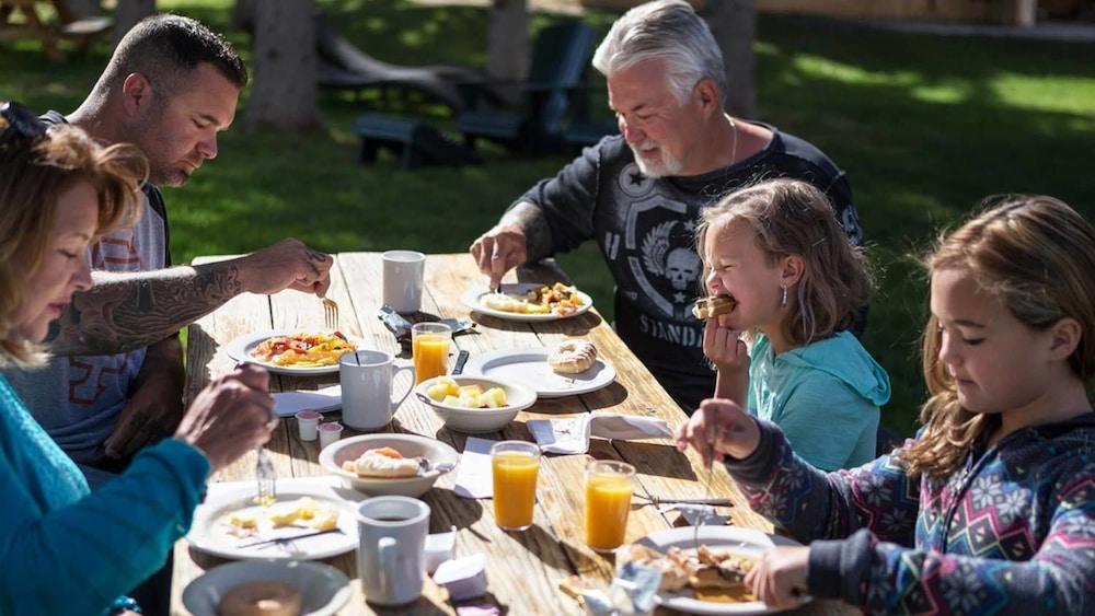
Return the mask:
<svg viewBox="0 0 1095 616">
<path fill-rule="evenodd" d="M 64 0 L 0 0 L 0 38 L 41 40 L 46 57 L 54 61 L 65 59 L 58 42 L 71 40 L 87 51 L 92 39 L 113 25 L 107 16 L 77 18 Z"/>
</svg>

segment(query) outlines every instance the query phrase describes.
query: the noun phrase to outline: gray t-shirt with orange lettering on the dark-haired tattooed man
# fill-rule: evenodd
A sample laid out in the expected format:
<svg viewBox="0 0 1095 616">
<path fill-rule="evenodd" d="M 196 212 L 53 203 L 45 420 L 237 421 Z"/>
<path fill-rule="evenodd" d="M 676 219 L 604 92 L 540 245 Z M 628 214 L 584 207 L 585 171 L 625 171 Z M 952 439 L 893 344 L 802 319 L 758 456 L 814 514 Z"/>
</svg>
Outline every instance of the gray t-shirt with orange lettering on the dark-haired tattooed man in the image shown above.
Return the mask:
<svg viewBox="0 0 1095 616">
<path fill-rule="evenodd" d="M 43 119 L 64 121 L 55 112 Z M 92 269 L 146 271 L 171 265 L 163 198 L 152 185 L 143 191 L 145 208 L 136 226 L 104 235 L 89 251 Z M 8 369 L 4 376 L 72 460 L 94 465 L 105 456 L 103 442 L 114 431 L 143 362 L 143 348 L 113 356 L 53 357 L 39 369 Z"/>
</svg>

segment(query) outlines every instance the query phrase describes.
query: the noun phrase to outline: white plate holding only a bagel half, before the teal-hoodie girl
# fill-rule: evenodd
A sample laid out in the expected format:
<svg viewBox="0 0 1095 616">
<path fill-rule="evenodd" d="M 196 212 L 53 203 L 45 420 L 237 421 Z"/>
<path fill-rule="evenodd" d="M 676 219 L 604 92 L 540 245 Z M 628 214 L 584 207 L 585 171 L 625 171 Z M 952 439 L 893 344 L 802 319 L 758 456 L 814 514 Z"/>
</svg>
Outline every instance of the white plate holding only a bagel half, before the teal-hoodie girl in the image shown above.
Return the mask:
<svg viewBox="0 0 1095 616">
<path fill-rule="evenodd" d="M 541 398 L 588 394 L 615 381 L 615 368 L 597 357 L 597 347 L 581 338 L 553 347 L 472 356 L 464 365 L 464 374 L 521 383 Z"/>
</svg>

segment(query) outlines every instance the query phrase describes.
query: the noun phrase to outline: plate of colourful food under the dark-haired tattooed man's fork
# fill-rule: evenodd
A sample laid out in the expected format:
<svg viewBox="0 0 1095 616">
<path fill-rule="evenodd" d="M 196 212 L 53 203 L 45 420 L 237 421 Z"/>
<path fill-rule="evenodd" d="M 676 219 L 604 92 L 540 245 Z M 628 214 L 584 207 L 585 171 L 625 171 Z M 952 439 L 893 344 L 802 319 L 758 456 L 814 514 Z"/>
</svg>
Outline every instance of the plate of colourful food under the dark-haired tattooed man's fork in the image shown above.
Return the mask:
<svg viewBox="0 0 1095 616">
<path fill-rule="evenodd" d="M 228 356 L 277 374 L 337 374 L 338 358 L 360 345 L 342 332 L 257 332 L 228 344 Z"/>
</svg>

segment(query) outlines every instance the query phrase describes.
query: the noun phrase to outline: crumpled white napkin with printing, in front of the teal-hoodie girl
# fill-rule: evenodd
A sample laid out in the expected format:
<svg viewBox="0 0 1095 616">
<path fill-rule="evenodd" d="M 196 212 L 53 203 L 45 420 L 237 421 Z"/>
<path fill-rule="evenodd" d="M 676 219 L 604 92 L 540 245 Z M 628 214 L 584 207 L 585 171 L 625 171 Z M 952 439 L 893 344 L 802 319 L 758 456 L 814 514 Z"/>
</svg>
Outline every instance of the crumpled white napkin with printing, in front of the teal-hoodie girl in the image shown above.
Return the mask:
<svg viewBox="0 0 1095 616">
<path fill-rule="evenodd" d="M 548 453 L 586 453 L 590 437 L 616 441 L 673 437 L 665 419 L 619 412 L 593 411 L 567 419 L 531 419 L 528 426 L 540 451 Z"/>
</svg>

